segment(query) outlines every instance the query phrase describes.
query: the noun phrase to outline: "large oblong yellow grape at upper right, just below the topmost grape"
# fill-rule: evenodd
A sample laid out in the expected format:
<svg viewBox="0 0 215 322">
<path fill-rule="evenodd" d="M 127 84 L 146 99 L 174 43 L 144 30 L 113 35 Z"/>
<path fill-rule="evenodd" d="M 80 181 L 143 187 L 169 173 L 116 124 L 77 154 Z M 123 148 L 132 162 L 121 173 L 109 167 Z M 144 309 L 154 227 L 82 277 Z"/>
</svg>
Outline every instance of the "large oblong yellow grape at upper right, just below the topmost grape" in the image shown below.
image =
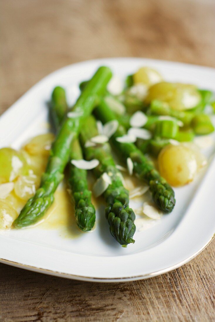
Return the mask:
<svg viewBox="0 0 215 322">
<path fill-rule="evenodd" d="M 167 102 L 172 109 L 192 109 L 200 103 L 201 96 L 194 85 L 160 82 L 148 90 L 146 103 L 157 99 Z"/>
</svg>

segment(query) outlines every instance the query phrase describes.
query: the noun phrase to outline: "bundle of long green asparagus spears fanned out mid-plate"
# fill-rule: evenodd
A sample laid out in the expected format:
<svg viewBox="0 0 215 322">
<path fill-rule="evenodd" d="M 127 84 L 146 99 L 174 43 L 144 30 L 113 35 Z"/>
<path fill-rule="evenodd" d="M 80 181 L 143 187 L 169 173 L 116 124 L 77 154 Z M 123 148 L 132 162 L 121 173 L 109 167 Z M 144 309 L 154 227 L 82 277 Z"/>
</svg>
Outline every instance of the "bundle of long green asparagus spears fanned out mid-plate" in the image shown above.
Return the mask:
<svg viewBox="0 0 215 322">
<path fill-rule="evenodd" d="M 100 67 L 90 81 L 80 85 L 81 94 L 73 109 L 68 108 L 65 90 L 56 87 L 52 93 L 51 116 L 55 125 L 56 139 L 52 144 L 48 164 L 42 175 L 40 188 L 30 198 L 20 215 L 14 222 L 15 228 L 22 228 L 36 223 L 45 214 L 54 201 L 54 192 L 63 179 L 67 165 L 67 181 L 71 197 L 75 204 L 77 226 L 82 231 L 90 231 L 95 224 L 95 207 L 91 202 L 91 191 L 87 185 L 87 171 L 75 166 L 71 160 L 81 160 L 83 155 L 87 161 L 96 159 L 98 165 L 93 172 L 97 178 L 108 176 L 109 183 L 102 194 L 106 201 L 106 217 L 112 236 L 123 247 L 134 243 L 133 235 L 136 227 L 135 214 L 129 208 L 128 190 L 123 186 L 122 175 L 115 165 L 108 142 L 87 144 L 98 136 L 97 123 L 94 115 L 103 124 L 117 120 L 118 128 L 111 134 L 110 141 L 126 163 L 131 160 L 136 175 L 149 185 L 152 199 L 164 213 L 169 213 L 175 205 L 174 192 L 153 164 L 140 151 L 138 144 L 122 142 L 118 138 L 126 134 L 129 128 L 130 115 L 117 115 L 109 106 L 106 97 L 111 97 L 107 84 L 111 78 L 108 67 Z M 118 101 L 119 102 L 119 101 Z M 124 102 L 130 110 L 144 109 L 141 100 L 131 96 Z M 129 112 L 129 108 L 127 109 Z M 150 128 L 158 116 L 148 117 L 145 128 Z M 161 129 L 162 130 L 162 129 Z M 159 129 L 157 129 L 159 131 Z M 80 142 L 79 142 L 80 140 Z M 142 145 L 139 145 L 142 149 Z M 83 153 L 82 153 L 83 151 Z"/>
</svg>

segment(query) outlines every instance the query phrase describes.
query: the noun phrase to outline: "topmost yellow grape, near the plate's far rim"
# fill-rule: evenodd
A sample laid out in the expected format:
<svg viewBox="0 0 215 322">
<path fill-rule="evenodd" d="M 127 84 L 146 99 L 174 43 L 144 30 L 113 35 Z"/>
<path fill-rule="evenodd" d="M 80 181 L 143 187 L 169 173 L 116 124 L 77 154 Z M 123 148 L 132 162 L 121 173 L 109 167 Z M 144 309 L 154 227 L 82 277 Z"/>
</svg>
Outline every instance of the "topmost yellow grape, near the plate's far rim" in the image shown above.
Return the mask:
<svg viewBox="0 0 215 322">
<path fill-rule="evenodd" d="M 135 84 L 142 83 L 147 86 L 151 86 L 163 80 L 158 71 L 149 68 L 141 67 L 134 75 L 133 80 Z"/>
</svg>

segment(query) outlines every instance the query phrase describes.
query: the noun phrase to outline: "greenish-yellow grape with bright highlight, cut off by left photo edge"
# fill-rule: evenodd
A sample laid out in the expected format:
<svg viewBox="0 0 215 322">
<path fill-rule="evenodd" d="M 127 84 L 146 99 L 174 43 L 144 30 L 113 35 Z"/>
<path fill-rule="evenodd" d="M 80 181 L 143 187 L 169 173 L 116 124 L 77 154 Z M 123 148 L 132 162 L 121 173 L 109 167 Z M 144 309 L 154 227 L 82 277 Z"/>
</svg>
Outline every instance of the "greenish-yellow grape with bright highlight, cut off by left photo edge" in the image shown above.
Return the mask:
<svg viewBox="0 0 215 322">
<path fill-rule="evenodd" d="M 13 181 L 18 175 L 25 175 L 28 165 L 24 156 L 10 148 L 0 149 L 0 184 Z"/>
</svg>

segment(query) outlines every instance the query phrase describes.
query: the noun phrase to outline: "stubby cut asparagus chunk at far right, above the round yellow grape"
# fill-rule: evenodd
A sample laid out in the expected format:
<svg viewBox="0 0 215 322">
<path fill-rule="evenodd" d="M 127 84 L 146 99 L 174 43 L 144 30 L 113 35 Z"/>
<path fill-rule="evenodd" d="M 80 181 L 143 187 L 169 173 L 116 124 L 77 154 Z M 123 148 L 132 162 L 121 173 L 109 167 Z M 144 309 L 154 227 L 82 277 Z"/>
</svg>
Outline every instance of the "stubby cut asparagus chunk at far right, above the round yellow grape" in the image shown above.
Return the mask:
<svg viewBox="0 0 215 322">
<path fill-rule="evenodd" d="M 214 131 L 213 124 L 210 117 L 206 114 L 196 115 L 191 122 L 191 126 L 196 134 L 204 135 L 210 134 Z"/>
</svg>

